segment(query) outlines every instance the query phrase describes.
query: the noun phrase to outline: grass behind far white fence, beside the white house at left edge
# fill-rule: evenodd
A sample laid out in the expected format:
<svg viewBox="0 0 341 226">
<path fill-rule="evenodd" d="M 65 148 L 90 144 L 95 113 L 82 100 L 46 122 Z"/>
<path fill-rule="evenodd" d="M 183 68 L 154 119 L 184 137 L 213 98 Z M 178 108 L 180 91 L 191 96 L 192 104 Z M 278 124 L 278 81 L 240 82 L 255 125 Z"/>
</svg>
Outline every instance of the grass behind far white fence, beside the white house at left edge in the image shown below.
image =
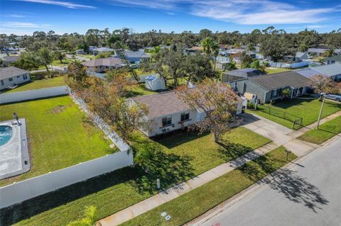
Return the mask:
<svg viewBox="0 0 341 226">
<path fill-rule="evenodd" d="M 25 84 L 20 84 L 15 89 L 9 89 L 4 92 L 6 93 L 13 93 L 18 91 L 26 91 L 31 89 L 43 89 L 53 86 L 65 86 L 64 78 L 63 77 L 54 77 L 53 79 L 50 79 L 48 77 L 45 77 L 43 79 L 37 79 L 29 81 Z"/>
</svg>

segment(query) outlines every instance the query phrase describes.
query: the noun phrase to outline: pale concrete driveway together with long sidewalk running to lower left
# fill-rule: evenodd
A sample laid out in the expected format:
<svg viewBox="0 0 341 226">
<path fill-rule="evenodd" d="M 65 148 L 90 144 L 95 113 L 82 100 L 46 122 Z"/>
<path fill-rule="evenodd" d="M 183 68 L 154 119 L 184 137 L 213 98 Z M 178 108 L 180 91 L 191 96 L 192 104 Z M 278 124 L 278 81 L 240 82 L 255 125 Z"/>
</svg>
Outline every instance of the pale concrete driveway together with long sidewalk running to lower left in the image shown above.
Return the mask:
<svg viewBox="0 0 341 226">
<path fill-rule="evenodd" d="M 237 159 L 210 169 L 203 174 L 195 176 L 193 179 L 180 183 L 177 186 L 173 186 L 172 188 L 168 188 L 166 191 L 162 191 L 161 193 L 158 193 L 151 198 L 147 198 L 140 203 L 136 203 L 135 205 L 131 205 L 130 207 L 114 213 L 113 215 L 109 215 L 108 217 L 99 220 L 99 224 L 102 226 L 114 226 L 126 222 L 127 220 L 131 220 L 138 215 L 146 213 L 148 210 L 158 207 L 158 205 L 173 200 L 174 198 L 177 198 L 178 196 L 187 193 L 194 188 L 217 179 L 218 177 L 227 174 L 229 171 L 232 171 L 237 167 L 242 166 L 246 162 L 266 154 L 267 152 L 270 152 L 281 145 L 286 147 L 286 149 L 290 150 L 297 156 L 302 156 L 303 154 L 306 154 L 317 147 L 317 145 L 296 140 L 298 134 L 293 133 L 294 130 L 274 123 L 271 120 L 267 120 L 266 118 L 262 118 L 259 115 L 244 114 L 242 126 L 258 133 L 259 135 L 263 135 L 270 140 L 273 140 L 273 142 L 244 154 L 242 157 L 238 157 Z"/>
</svg>

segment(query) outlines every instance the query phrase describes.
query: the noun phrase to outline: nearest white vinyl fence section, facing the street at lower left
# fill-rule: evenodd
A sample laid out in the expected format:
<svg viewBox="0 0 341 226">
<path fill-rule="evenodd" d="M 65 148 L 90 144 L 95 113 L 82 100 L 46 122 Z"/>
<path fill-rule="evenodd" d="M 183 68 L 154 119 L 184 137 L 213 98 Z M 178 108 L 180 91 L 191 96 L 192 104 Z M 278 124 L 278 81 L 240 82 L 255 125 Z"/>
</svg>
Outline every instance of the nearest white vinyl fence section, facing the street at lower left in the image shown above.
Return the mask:
<svg viewBox="0 0 341 226">
<path fill-rule="evenodd" d="M 26 181 L 12 183 L 0 188 L 0 208 L 21 203 L 72 183 L 85 181 L 132 164 L 133 152 L 127 150 L 36 176 Z"/>
</svg>

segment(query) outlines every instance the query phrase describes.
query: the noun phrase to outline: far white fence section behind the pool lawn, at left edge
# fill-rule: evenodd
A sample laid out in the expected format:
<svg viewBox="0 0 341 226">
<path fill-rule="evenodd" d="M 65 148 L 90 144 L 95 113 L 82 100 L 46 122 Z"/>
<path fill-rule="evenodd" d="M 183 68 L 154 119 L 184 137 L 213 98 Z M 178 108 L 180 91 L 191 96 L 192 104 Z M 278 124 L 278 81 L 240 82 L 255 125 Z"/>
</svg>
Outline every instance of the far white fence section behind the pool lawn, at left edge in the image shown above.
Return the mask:
<svg viewBox="0 0 341 226">
<path fill-rule="evenodd" d="M 0 94 L 1 103 L 12 103 L 18 101 L 27 101 L 36 98 L 45 98 L 50 96 L 60 96 L 70 94 L 68 86 L 55 86 L 44 89 L 33 89 L 28 91 L 19 91 L 9 94 Z"/>
</svg>

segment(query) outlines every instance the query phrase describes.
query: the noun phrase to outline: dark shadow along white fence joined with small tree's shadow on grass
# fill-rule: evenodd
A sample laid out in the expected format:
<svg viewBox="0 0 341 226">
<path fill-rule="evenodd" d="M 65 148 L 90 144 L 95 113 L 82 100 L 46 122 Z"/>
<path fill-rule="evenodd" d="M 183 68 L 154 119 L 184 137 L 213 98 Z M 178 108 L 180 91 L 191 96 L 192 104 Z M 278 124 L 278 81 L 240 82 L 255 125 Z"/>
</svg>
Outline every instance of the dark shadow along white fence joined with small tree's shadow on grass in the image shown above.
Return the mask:
<svg viewBox="0 0 341 226">
<path fill-rule="evenodd" d="M 193 177 L 193 168 L 190 165 L 190 161 L 189 157 L 166 154 L 158 150 L 148 161 L 148 166 L 150 167 L 148 173 L 140 166 L 126 167 L 88 179 L 87 181 L 60 188 L 57 191 L 46 193 L 36 198 L 31 198 L 23 203 L 1 209 L 0 225 L 13 225 L 21 220 L 97 193 L 119 183 L 129 183 L 136 188 L 138 193 L 156 193 L 156 179 L 160 179 L 161 188 L 169 188 L 176 183 Z M 114 190 L 115 188 L 112 189 Z M 98 196 L 101 195 L 98 194 Z"/>
</svg>

